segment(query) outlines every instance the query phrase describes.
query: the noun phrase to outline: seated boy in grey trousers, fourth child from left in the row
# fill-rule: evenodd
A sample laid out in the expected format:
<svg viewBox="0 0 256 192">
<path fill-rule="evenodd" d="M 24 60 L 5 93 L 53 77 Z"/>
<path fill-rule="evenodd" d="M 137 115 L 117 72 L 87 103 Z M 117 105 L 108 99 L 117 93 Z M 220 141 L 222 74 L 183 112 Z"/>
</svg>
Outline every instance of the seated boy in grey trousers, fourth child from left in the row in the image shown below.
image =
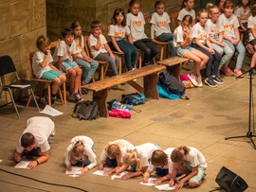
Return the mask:
<svg viewBox="0 0 256 192">
<path fill-rule="evenodd" d="M 93 21 L 91 24 L 92 34 L 88 38 L 88 44 L 91 49 L 93 59 L 100 61 L 108 61 L 113 76 L 119 75 L 119 57 L 114 55 L 107 44 L 106 38 L 101 34 L 101 23 Z"/>
</svg>

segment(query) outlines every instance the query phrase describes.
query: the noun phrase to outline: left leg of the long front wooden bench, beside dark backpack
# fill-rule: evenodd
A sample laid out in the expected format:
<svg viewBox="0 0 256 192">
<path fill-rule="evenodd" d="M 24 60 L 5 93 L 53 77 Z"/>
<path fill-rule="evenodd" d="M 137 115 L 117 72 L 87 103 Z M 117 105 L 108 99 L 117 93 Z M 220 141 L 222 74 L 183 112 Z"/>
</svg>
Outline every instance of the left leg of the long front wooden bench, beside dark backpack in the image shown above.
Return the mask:
<svg viewBox="0 0 256 192">
<path fill-rule="evenodd" d="M 106 103 L 106 98 L 107 98 L 107 89 L 104 89 L 100 92 L 93 92 L 93 99 L 98 103 L 99 108 L 100 108 L 100 113 L 99 115 L 101 117 L 107 117 L 108 116 L 108 110 L 107 110 L 107 103 Z"/>
</svg>

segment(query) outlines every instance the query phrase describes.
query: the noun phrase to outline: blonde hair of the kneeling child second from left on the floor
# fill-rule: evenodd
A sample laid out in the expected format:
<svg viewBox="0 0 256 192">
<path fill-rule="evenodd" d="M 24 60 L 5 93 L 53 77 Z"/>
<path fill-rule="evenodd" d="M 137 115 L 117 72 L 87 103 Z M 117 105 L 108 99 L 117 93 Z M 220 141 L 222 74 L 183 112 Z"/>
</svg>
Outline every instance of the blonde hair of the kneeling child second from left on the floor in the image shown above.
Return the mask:
<svg viewBox="0 0 256 192">
<path fill-rule="evenodd" d="M 75 158 L 81 158 L 82 161 L 84 161 L 85 156 L 85 148 L 82 141 L 77 141 L 76 143 L 73 143 L 73 148 L 69 151 L 69 157 L 71 164 L 76 163 Z"/>
</svg>

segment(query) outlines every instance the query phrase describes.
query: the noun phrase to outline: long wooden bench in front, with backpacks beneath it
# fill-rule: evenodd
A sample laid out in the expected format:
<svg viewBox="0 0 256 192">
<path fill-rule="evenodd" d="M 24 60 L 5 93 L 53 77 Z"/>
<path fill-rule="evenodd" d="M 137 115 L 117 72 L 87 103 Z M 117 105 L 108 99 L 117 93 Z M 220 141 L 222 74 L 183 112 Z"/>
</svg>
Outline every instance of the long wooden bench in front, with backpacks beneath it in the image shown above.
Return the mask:
<svg viewBox="0 0 256 192">
<path fill-rule="evenodd" d="M 165 66 L 153 64 L 148 65 L 133 71 L 123 73 L 119 76 L 111 77 L 109 79 L 102 79 L 82 87 L 93 91 L 93 99 L 99 104 L 100 116 L 107 117 L 107 103 L 106 98 L 108 90 L 114 85 L 127 82 L 134 87 L 138 92 L 143 93 L 147 98 L 159 99 L 157 91 L 157 81 L 160 72 L 165 70 Z M 133 79 L 144 78 L 144 85 L 141 87 Z"/>
</svg>

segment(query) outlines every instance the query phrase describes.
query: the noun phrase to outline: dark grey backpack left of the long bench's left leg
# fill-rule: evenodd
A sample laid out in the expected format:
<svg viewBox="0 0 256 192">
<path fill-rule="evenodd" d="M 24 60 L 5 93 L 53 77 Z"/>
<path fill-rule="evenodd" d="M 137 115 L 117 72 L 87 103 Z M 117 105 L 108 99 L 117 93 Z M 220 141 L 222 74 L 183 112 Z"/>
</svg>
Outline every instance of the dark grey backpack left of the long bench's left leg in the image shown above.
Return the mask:
<svg viewBox="0 0 256 192">
<path fill-rule="evenodd" d="M 96 119 L 99 116 L 99 105 L 94 100 L 83 100 L 76 103 L 72 115 L 78 117 L 80 120 Z"/>
</svg>

